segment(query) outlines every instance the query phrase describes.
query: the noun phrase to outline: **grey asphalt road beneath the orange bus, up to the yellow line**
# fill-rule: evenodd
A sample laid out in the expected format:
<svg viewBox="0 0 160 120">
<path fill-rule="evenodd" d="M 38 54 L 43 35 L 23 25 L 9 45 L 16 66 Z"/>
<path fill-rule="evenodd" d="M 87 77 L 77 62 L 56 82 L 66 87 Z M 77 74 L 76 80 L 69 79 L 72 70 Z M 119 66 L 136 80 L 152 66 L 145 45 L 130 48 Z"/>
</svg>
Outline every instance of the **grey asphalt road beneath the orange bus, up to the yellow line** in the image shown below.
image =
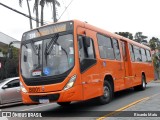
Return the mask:
<svg viewBox="0 0 160 120">
<path fill-rule="evenodd" d="M 56 103 L 50 104 L 39 104 L 39 105 L 13 105 L 1 108 L 2 111 L 35 111 L 41 112 L 43 115 L 54 116 L 58 115 L 59 117 L 47 117 L 42 118 L 45 120 L 50 119 L 96 119 L 103 115 L 106 115 L 108 112 L 115 111 L 119 108 L 122 108 L 134 101 L 139 99 L 152 96 L 159 93 L 160 83 L 148 83 L 145 91 L 134 91 L 133 89 L 117 92 L 115 94 L 114 100 L 106 105 L 95 104 L 93 100 L 85 102 L 75 102 L 72 103 L 69 107 L 61 107 Z M 81 111 L 81 112 L 80 112 Z M 58 114 L 57 114 L 58 113 Z M 76 118 L 75 118 L 76 117 Z M 11 118 L 9 118 L 11 119 Z M 13 118 L 12 118 L 13 119 Z M 22 119 L 22 118 L 20 118 Z M 23 118 L 25 120 L 31 120 L 32 118 Z M 33 118 L 35 119 L 35 118 Z M 39 118 L 37 118 L 38 120 Z M 17 118 L 15 118 L 17 120 Z"/>
</svg>

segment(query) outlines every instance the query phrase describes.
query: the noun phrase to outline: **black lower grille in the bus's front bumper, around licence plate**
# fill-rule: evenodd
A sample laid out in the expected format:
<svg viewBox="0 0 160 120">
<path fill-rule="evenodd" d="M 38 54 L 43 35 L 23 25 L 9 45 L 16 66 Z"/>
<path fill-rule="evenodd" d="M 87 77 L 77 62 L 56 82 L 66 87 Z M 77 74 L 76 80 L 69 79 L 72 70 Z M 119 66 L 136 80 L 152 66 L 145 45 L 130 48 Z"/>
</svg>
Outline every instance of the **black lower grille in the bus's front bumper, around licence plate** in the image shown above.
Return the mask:
<svg viewBox="0 0 160 120">
<path fill-rule="evenodd" d="M 49 94 L 49 95 L 30 95 L 32 101 L 39 102 L 39 99 L 49 99 L 50 102 L 56 101 L 59 99 L 60 94 Z"/>
</svg>

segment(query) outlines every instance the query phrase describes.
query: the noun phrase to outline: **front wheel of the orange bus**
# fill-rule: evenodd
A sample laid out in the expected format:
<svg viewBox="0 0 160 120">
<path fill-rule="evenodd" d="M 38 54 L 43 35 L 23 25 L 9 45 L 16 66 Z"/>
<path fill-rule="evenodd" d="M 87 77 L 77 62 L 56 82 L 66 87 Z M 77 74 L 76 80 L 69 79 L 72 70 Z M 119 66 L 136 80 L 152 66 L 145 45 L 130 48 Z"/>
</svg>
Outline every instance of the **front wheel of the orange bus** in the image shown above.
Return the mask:
<svg viewBox="0 0 160 120">
<path fill-rule="evenodd" d="M 103 90 L 103 95 L 98 97 L 98 103 L 101 105 L 109 103 L 113 97 L 113 90 L 111 84 L 108 81 L 104 81 Z"/>
</svg>

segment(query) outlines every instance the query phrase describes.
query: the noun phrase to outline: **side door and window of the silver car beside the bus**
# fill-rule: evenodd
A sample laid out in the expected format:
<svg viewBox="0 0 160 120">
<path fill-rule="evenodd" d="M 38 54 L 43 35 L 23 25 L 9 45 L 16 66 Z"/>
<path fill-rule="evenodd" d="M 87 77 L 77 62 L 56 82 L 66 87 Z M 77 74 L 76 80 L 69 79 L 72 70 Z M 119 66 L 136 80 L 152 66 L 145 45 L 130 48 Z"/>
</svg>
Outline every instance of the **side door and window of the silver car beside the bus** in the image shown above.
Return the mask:
<svg viewBox="0 0 160 120">
<path fill-rule="evenodd" d="M 19 80 L 8 82 L 6 86 L 2 89 L 2 103 L 21 101 Z"/>
</svg>

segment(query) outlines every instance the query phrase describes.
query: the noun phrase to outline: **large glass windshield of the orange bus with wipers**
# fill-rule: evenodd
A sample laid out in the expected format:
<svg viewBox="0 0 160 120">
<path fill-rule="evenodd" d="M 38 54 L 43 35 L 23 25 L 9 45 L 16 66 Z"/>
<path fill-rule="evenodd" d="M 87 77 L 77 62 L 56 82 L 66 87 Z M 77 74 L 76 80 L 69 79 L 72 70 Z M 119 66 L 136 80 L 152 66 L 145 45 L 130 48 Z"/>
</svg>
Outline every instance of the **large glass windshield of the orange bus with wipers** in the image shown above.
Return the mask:
<svg viewBox="0 0 160 120">
<path fill-rule="evenodd" d="M 21 73 L 25 78 L 60 75 L 74 66 L 72 34 L 29 40 L 21 48 Z"/>
</svg>

